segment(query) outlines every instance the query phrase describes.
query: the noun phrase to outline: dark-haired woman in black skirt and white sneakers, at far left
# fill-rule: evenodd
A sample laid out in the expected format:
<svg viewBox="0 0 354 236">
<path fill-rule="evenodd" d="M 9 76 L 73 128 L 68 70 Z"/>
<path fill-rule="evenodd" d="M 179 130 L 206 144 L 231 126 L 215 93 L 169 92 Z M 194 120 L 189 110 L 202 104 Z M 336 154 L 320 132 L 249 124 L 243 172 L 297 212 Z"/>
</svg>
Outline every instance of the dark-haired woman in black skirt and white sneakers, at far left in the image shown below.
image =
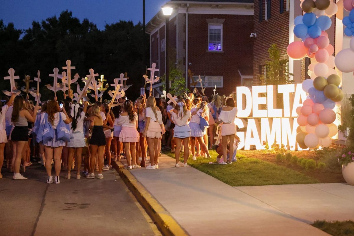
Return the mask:
<svg viewBox="0 0 354 236">
<path fill-rule="evenodd" d="M 22 174 L 20 174 L 20 165 L 23 149 L 27 148 L 26 144 L 28 143 L 28 121 L 34 122 L 38 111 L 38 104 L 36 104 L 33 115 L 31 115 L 27 109 L 24 109 L 24 103 L 24 98 L 21 95 L 16 96 L 13 102 L 13 110 L 11 116 L 11 121 L 15 126 L 10 135 L 13 157 L 15 157 L 15 161 L 13 161 L 13 167 L 15 167 L 13 172 L 13 179 L 15 180 L 27 179 L 23 177 Z"/>
</svg>

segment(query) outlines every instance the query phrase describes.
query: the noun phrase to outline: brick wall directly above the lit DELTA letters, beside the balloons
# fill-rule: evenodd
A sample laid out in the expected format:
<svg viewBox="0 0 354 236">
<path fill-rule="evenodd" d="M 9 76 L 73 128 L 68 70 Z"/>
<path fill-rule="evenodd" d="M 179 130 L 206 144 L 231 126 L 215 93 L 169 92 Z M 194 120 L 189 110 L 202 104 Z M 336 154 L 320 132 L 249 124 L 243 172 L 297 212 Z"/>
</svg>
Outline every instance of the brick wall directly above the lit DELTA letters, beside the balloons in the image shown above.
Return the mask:
<svg viewBox="0 0 354 236">
<path fill-rule="evenodd" d="M 280 14 L 280 1 L 271 1 L 270 19 L 265 21 L 265 0 L 263 2 L 263 17 L 262 22 L 259 22 L 259 3 L 260 0 L 254 1 L 254 33 L 257 33 L 256 38 L 249 38 L 253 40 L 253 85 L 259 83 L 259 66 L 264 65 L 265 61 L 269 59 L 268 49 L 270 45 L 276 44 L 280 50 L 280 54 L 284 58 L 288 58 L 286 48 L 289 45 L 289 11 L 285 11 L 286 0 L 284 1 L 284 12 Z"/>
</svg>

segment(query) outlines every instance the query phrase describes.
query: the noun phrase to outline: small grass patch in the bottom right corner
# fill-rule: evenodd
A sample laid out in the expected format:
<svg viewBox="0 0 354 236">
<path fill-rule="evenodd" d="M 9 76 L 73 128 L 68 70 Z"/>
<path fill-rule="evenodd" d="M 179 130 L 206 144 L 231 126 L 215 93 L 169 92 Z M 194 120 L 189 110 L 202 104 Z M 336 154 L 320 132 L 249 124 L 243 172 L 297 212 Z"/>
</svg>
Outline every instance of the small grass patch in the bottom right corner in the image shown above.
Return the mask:
<svg viewBox="0 0 354 236">
<path fill-rule="evenodd" d="M 333 236 L 354 235 L 354 221 L 352 220 L 332 222 L 317 220 L 312 225 Z"/>
</svg>

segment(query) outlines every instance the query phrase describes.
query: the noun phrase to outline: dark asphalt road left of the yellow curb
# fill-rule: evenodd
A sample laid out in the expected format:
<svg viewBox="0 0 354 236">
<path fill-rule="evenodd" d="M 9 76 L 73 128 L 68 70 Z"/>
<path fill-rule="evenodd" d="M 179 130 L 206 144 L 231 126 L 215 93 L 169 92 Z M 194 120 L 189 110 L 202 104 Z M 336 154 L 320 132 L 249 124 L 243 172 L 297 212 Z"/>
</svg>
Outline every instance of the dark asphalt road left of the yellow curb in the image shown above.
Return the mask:
<svg viewBox="0 0 354 236">
<path fill-rule="evenodd" d="M 26 168 L 28 180 L 2 175 L 0 236 L 161 235 L 115 170 L 80 180 L 62 171 L 60 184 L 47 184 L 39 165 Z"/>
</svg>

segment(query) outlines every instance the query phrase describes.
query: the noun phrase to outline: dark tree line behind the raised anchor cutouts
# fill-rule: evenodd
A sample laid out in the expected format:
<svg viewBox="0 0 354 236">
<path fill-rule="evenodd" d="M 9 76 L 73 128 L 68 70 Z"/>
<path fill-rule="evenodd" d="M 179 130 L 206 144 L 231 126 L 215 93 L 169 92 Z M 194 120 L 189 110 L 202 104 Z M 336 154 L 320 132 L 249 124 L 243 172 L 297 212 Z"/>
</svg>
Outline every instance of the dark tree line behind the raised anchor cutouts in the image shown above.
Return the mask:
<svg viewBox="0 0 354 236">
<path fill-rule="evenodd" d="M 90 74 L 90 68 L 99 75 L 104 74 L 109 84 L 113 84 L 113 79 L 119 78 L 120 73 L 127 72 L 130 78 L 127 85 L 133 84 L 127 94 L 135 98 L 144 85 L 142 75 L 149 62 L 149 52 L 144 53 L 143 48 L 148 49 L 148 44 L 140 22 L 134 25 L 131 21 L 119 21 L 98 30 L 88 19 L 80 22 L 70 11 L 63 11 L 58 18 L 34 21 L 32 28 L 27 30 L 16 29 L 12 23 L 6 26 L 0 20 L 0 90 L 10 90 L 10 81 L 3 79 L 8 76 L 9 68 L 14 68 L 15 75 L 20 76 L 15 80 L 19 87 L 25 85 L 24 75 L 30 75 L 33 80 L 40 70 L 41 100 L 51 99 L 54 93 L 45 85 L 53 85 L 53 77 L 48 74 L 52 74 L 55 67 L 61 73 L 66 60 L 70 59 L 76 67 L 72 70 L 72 79 L 76 73 L 80 75 L 81 89 L 84 86 L 81 78 Z M 30 86 L 36 87 L 36 82 Z M 72 89 L 75 92 L 76 86 L 72 85 Z M 113 87 L 109 89 L 113 90 Z M 61 99 L 63 92 L 59 91 L 57 97 Z M 105 93 L 104 98 L 110 97 Z"/>
</svg>

